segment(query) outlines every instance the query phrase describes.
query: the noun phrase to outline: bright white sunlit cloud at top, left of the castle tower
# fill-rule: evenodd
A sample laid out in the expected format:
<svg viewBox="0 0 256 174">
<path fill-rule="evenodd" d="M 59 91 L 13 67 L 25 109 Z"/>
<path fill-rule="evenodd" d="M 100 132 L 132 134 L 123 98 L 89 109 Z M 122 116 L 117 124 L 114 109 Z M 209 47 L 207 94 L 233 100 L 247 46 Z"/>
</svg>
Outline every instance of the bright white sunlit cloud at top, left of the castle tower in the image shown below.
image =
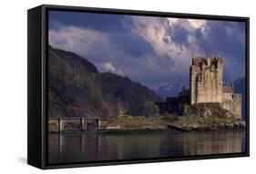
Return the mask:
<svg viewBox="0 0 256 174">
<path fill-rule="evenodd" d="M 169 73 L 183 74 L 183 77 L 187 77 L 191 54 L 201 53 L 193 44 L 196 40 L 193 33 L 205 22 L 202 20 L 198 23 L 195 20 L 189 22 L 187 19 L 175 18 L 163 20 L 159 17 L 145 16 L 134 16 L 132 21 L 132 31 L 152 44 L 158 55 L 157 60 L 163 55 L 169 57 L 172 65 L 165 66 Z"/>
</svg>

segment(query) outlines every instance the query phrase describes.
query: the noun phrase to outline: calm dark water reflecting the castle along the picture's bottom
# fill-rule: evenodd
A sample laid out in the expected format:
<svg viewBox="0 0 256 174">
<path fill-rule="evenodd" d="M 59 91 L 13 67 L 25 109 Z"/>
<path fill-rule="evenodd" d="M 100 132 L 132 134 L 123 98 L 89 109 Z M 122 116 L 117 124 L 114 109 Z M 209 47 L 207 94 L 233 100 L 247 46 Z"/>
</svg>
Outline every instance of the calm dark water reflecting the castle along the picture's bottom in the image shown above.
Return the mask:
<svg viewBox="0 0 256 174">
<path fill-rule="evenodd" d="M 245 151 L 245 131 L 49 134 L 48 162 L 132 160 Z"/>
</svg>

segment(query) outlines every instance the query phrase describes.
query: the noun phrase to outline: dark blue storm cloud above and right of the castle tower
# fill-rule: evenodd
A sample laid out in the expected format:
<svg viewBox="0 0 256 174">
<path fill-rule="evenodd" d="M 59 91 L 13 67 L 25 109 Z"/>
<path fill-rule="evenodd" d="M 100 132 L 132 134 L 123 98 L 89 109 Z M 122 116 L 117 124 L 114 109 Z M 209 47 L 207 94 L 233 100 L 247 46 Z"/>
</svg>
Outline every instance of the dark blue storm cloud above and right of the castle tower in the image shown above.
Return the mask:
<svg viewBox="0 0 256 174">
<path fill-rule="evenodd" d="M 204 35 L 201 28 L 189 31 L 182 25 L 170 26 L 168 33 L 172 42 L 186 48 L 193 48 L 189 41 L 189 34 L 196 38 L 196 43 L 201 53 L 205 56 L 213 56 L 220 53 L 224 59 L 224 77 L 225 83 L 245 75 L 245 23 L 228 21 L 207 21 L 207 27 Z M 168 39 L 163 41 L 169 43 Z M 182 48 L 182 47 L 180 47 Z"/>
</svg>

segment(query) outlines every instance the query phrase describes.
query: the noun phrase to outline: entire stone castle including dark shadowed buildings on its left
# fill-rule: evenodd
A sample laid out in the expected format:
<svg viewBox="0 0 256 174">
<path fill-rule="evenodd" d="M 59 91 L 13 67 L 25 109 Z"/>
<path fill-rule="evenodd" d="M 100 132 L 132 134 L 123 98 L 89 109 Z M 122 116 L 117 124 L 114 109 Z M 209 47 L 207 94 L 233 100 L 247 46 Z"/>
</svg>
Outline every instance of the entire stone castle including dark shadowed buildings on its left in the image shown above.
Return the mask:
<svg viewBox="0 0 256 174">
<path fill-rule="evenodd" d="M 232 85 L 223 85 L 223 59 L 220 55 L 192 55 L 189 86 L 189 90 L 179 92 L 178 97 L 168 97 L 166 102 L 156 103 L 160 114 L 184 112 L 188 104 L 219 102 L 224 109 L 241 118 L 241 93 L 235 93 Z"/>
</svg>

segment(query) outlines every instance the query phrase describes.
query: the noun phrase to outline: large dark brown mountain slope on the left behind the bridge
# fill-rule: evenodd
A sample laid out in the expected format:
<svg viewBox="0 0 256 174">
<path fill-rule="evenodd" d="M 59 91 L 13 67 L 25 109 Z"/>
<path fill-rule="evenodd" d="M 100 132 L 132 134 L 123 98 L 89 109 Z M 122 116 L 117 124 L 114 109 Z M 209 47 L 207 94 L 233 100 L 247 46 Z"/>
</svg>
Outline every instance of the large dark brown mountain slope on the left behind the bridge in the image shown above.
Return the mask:
<svg viewBox="0 0 256 174">
<path fill-rule="evenodd" d="M 48 47 L 49 117 L 145 115 L 161 98 L 148 87 L 97 67 L 76 53 Z"/>
</svg>

